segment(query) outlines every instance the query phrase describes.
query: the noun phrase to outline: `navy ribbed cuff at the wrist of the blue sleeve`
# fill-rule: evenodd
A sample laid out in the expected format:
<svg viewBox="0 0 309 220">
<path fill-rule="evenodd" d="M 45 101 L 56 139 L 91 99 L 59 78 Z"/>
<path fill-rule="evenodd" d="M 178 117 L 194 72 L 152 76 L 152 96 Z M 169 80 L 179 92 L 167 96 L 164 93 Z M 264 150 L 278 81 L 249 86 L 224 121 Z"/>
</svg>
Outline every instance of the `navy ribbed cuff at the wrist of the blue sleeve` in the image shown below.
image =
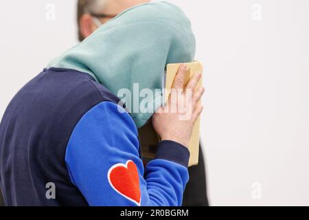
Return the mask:
<svg viewBox="0 0 309 220">
<path fill-rule="evenodd" d="M 190 152 L 185 146 L 171 140 L 164 140 L 158 144 L 155 159 L 166 159 L 187 167 L 189 164 L 189 157 Z"/>
</svg>

